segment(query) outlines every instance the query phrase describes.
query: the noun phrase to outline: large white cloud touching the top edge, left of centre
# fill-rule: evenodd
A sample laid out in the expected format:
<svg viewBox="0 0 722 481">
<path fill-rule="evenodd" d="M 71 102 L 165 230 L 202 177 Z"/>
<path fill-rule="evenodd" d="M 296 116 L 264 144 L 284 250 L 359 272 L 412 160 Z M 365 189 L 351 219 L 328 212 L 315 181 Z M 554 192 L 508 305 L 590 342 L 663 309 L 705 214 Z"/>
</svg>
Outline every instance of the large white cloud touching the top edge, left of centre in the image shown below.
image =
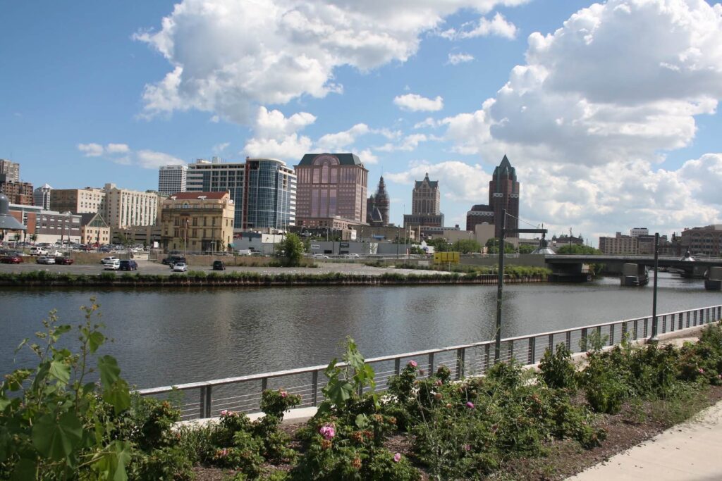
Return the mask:
<svg viewBox="0 0 722 481">
<path fill-rule="evenodd" d="M 526 1 L 183 0 L 160 30 L 134 35 L 172 67 L 146 85 L 142 115 L 195 109 L 251 123 L 256 105 L 342 92 L 339 66 L 406 61 L 424 32 L 461 9 L 486 14 Z"/>
</svg>

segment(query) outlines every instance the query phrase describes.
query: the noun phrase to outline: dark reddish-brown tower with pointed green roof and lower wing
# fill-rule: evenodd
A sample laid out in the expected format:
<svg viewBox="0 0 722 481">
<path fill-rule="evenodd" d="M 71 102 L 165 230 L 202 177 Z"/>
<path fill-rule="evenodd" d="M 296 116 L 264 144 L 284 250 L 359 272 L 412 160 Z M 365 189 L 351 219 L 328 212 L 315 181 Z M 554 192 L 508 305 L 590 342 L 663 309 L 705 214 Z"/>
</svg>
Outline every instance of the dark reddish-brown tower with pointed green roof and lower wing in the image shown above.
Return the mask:
<svg viewBox="0 0 722 481">
<path fill-rule="evenodd" d="M 474 231 L 477 224 L 494 224 L 494 235 L 501 235 L 502 212 L 506 209 L 507 229 L 519 227 L 519 182 L 516 179 L 516 169 L 506 156 L 494 169 L 492 180 L 489 182 L 489 204 L 478 204 L 466 213 L 466 230 Z"/>
</svg>

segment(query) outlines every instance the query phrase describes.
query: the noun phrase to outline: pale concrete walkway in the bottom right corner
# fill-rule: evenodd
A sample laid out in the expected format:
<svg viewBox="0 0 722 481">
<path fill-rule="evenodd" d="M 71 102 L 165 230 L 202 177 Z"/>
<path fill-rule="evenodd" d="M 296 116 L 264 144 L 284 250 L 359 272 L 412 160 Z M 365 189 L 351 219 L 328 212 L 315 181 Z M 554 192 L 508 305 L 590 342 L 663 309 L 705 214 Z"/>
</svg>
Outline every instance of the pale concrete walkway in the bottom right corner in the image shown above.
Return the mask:
<svg viewBox="0 0 722 481">
<path fill-rule="evenodd" d="M 722 402 L 569 481 L 722 480 Z"/>
</svg>

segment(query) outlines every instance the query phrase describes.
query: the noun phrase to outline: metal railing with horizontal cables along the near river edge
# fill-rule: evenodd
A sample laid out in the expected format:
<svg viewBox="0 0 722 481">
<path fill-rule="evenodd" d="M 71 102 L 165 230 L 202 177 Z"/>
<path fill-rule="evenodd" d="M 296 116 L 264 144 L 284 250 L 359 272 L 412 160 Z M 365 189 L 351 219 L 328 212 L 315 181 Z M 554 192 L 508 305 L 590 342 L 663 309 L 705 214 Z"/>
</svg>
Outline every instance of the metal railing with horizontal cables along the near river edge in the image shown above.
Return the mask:
<svg viewBox="0 0 722 481">
<path fill-rule="evenodd" d="M 722 320 L 722 305 L 659 314 L 658 332 L 674 332 Z M 628 337 L 630 340 L 651 337 L 652 317 L 636 317 L 614 322 L 573 327 L 571 329 L 541 332 L 539 334 L 509 337 L 502 340 L 501 361 L 514 359 L 523 364 L 539 362 L 544 352 L 565 343 L 572 353 L 585 350 L 582 346 L 593 333 L 605 345 L 615 345 Z M 427 377 L 439 366 L 447 366 L 455 379 L 484 374 L 494 363 L 494 341 L 454 345 L 447 348 L 419 350 L 393 356 L 370 358 L 366 363 L 375 371 L 376 390 L 386 389 L 388 379 L 399 374 L 409 361 L 415 361 Z M 344 366 L 339 363 L 338 366 Z M 258 412 L 261 393 L 266 389 L 283 388 L 301 396 L 299 407 L 316 406 L 321 402 L 321 389 L 328 379 L 324 376 L 326 366 L 310 366 L 287 371 L 275 371 L 249 376 L 238 376 L 212 381 L 178 384 L 175 386 L 141 389 L 142 396 L 170 398 L 181 409 L 183 420 L 212 418 L 222 410 Z M 192 399 L 197 400 L 193 402 Z"/>
</svg>

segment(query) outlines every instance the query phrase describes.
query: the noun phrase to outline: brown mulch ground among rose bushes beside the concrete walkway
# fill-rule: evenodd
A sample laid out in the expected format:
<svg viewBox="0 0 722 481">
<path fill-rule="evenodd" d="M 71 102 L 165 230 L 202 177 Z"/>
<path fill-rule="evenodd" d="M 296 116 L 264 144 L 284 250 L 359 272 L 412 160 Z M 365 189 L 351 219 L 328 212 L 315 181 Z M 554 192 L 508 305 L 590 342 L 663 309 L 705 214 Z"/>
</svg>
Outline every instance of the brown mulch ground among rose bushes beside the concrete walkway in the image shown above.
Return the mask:
<svg viewBox="0 0 722 481">
<path fill-rule="evenodd" d="M 722 387 L 709 387 L 705 396 L 705 406 L 703 407 L 716 404 L 722 400 Z M 583 397 L 578 397 L 578 402 L 583 402 Z M 599 425 L 607 431 L 606 440 L 601 446 L 583 449 L 572 440 L 551 441 L 547 444 L 547 456 L 514 458 L 489 479 L 564 480 L 671 428 L 671 423 L 661 419 L 659 415 L 655 415 L 654 410 L 655 407 L 652 403 L 643 402 L 637 406 L 625 405 L 622 412 L 616 415 L 600 415 Z M 292 435 L 299 427 L 300 424 L 287 424 L 283 425 L 282 429 Z M 414 459 L 412 444 L 411 436 L 402 433 L 388 438 L 385 446 L 391 452 L 400 452 L 409 456 L 410 459 Z M 275 466 L 274 469 L 287 470 L 290 469 L 290 466 Z M 193 470 L 198 481 L 223 481 L 235 474 L 229 469 L 196 467 Z M 428 478 L 423 475 L 422 479 Z"/>
</svg>

